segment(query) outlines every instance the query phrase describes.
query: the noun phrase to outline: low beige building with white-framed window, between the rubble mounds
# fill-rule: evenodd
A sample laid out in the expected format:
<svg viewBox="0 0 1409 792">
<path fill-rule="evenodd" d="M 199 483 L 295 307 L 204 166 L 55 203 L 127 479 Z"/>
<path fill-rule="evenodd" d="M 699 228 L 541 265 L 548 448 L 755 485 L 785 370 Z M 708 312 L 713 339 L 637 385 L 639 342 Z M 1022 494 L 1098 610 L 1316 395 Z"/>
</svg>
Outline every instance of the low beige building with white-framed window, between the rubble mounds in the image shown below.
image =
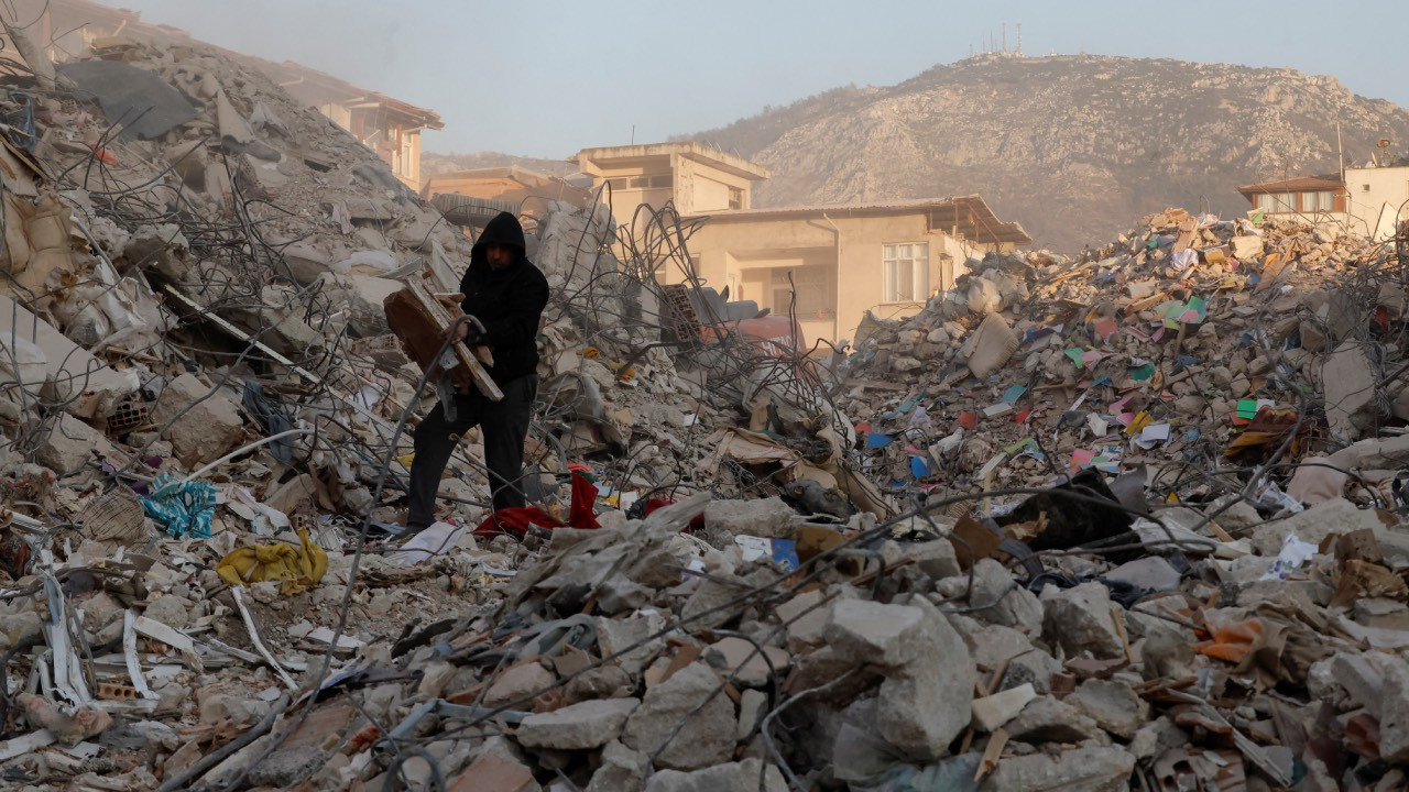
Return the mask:
<svg viewBox="0 0 1409 792">
<path fill-rule="evenodd" d="M 706 217 L 700 213 L 700 217 Z M 707 213 L 689 238 L 695 275 L 728 287 L 731 300 L 795 311 L 809 344 L 855 337 L 865 311 L 919 313 L 988 251 L 1031 244 L 979 196 L 896 204 L 786 207 Z M 657 272 L 666 283 L 686 273 Z"/>
</svg>

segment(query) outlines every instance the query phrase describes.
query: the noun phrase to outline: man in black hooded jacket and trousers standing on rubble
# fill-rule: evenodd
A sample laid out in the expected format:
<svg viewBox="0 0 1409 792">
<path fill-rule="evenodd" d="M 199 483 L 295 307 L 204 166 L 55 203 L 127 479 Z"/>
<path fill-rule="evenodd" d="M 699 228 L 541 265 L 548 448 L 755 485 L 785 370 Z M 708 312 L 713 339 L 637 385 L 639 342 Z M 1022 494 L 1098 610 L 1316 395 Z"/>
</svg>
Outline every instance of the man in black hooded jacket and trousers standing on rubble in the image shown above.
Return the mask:
<svg viewBox="0 0 1409 792">
<path fill-rule="evenodd" d="M 411 461 L 410 513 L 407 527 L 420 530 L 435 521 L 435 492 L 441 474 L 462 434 L 479 426 L 485 437 L 485 465 L 495 510 L 524 506 L 524 438 L 538 393 L 538 320 L 548 304 L 548 280 L 528 261 L 524 230 L 507 211 L 489 221 L 469 252 L 469 269 L 459 282 L 465 295 L 461 307 L 485 326 L 485 333 L 461 321 L 454 333 L 471 345 L 493 351 L 489 376 L 503 390 L 502 402 L 490 402 L 473 386 L 455 396 L 455 420 L 445 419 L 437 404 L 416 427 L 416 458 Z"/>
</svg>

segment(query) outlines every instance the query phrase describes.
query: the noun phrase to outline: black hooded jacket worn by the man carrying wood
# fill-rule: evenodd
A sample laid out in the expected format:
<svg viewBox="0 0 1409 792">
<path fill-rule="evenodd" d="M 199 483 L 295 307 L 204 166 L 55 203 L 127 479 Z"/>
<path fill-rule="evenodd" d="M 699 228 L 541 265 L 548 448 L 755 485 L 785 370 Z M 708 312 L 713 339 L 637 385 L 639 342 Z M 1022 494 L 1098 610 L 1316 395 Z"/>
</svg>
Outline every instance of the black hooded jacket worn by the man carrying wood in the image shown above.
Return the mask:
<svg viewBox="0 0 1409 792">
<path fill-rule="evenodd" d="M 492 244 L 519 251 L 514 262 L 495 272 L 486 248 Z M 469 252 L 469 269 L 459 282 L 461 307 L 485 323 L 485 344 L 495 352 L 489 376 L 506 385 L 538 368 L 538 318 L 548 304 L 548 279 L 528 261 L 524 230 L 507 211 L 485 225 Z"/>
</svg>

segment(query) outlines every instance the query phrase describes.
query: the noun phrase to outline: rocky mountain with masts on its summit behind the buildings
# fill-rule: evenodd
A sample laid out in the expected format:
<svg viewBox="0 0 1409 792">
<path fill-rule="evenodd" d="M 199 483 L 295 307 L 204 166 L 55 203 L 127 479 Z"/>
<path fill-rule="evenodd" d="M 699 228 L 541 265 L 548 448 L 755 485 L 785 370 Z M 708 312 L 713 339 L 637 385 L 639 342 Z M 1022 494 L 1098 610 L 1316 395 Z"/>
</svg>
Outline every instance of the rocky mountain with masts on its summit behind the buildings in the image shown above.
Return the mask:
<svg viewBox="0 0 1409 792">
<path fill-rule="evenodd" d="M 1064 252 L 1182 206 L 1247 210 L 1240 183 L 1409 145 L 1409 111 L 1292 69 L 982 55 L 841 87 L 688 140 L 766 165 L 755 206 L 981 193 Z"/>
</svg>

